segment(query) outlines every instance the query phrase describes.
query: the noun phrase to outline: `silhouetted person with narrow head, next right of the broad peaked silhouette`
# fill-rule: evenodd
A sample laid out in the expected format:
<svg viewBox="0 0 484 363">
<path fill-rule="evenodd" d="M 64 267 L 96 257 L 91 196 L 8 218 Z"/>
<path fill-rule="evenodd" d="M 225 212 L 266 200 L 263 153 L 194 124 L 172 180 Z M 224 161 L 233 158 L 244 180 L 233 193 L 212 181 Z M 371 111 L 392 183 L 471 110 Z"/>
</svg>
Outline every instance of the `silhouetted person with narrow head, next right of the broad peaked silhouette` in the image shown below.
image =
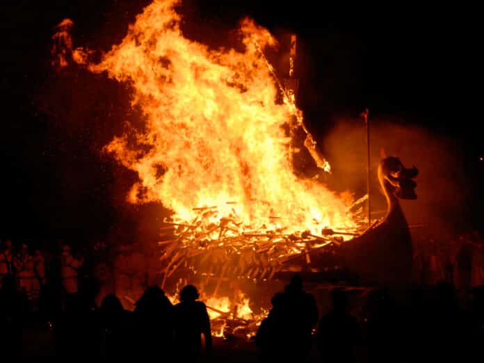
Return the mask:
<svg viewBox="0 0 484 363">
<path fill-rule="evenodd" d="M 360 342 L 357 319 L 348 314 L 348 296 L 334 289 L 331 293 L 333 309 L 318 325 L 318 350 L 323 362 L 354 362 L 355 346 Z"/>
</svg>

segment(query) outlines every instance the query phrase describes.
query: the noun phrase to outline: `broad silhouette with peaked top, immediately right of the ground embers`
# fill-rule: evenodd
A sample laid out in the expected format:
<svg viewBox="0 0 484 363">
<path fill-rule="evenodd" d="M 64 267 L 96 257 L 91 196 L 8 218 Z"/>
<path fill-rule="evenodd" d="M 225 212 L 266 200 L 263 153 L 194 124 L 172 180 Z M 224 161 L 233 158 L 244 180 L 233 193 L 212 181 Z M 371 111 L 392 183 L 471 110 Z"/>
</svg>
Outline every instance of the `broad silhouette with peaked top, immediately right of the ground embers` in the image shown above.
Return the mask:
<svg viewBox="0 0 484 363">
<path fill-rule="evenodd" d="M 318 308 L 312 294 L 302 290 L 296 274 L 276 293 L 273 308 L 259 327 L 256 342 L 265 360 L 304 362 L 312 345 L 312 329 L 318 322 Z"/>
</svg>

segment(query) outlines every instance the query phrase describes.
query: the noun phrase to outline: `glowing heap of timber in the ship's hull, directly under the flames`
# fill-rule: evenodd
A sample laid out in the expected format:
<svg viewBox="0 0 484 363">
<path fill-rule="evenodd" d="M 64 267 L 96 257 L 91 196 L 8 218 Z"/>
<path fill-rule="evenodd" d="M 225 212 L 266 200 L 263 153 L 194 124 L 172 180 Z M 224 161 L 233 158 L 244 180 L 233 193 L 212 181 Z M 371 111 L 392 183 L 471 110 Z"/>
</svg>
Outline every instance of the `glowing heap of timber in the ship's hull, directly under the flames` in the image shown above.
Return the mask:
<svg viewBox="0 0 484 363">
<path fill-rule="evenodd" d="M 284 233 L 284 227 L 251 231 L 235 218 L 209 222 L 209 217 L 216 213 L 216 208 L 198 209 L 197 217 L 190 223 L 165 221 L 158 243 L 165 266 L 162 288 L 179 268 L 220 280 L 235 277 L 270 280 L 287 262 L 305 257 L 310 264 L 312 253 L 341 244 L 341 235 L 356 234 L 332 229 L 323 229 L 325 236 L 308 231 L 289 234 Z"/>
</svg>

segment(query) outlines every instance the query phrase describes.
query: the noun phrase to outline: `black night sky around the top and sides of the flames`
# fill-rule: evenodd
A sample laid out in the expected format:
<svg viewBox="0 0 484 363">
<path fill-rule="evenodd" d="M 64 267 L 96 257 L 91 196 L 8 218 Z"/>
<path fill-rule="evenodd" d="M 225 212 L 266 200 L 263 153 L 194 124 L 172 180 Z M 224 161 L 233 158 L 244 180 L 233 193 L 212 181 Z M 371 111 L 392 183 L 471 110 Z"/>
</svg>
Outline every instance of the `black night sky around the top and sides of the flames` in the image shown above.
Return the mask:
<svg viewBox="0 0 484 363">
<path fill-rule="evenodd" d="M 138 228 L 156 229 L 154 216 L 163 216 L 163 209 L 127 206 L 124 195 L 134 175 L 99 153 L 119 131 L 108 108 L 115 107 L 113 99 L 128 101 L 125 90 L 100 76 L 96 83 L 81 70 L 56 74 L 50 65 L 51 35 L 65 17 L 74 21 L 75 45 L 107 50 L 147 3 L 2 3 L 0 239 L 105 238 L 133 220 L 147 221 Z M 214 45 L 244 16 L 276 37 L 298 34 L 298 104 L 318 138 L 338 118 L 356 117 L 368 107 L 374 118 L 395 116 L 454 140 L 475 193 L 465 213 L 480 227 L 480 12 L 456 3 L 340 4 L 190 0 L 182 13 L 187 35 L 197 33 Z M 191 28 L 197 22 L 200 32 Z M 52 107 L 56 97 L 58 110 Z M 82 109 L 76 99 L 82 99 Z M 113 111 L 122 112 L 120 106 Z M 72 114 L 76 117 L 67 122 Z M 449 163 L 445 177 L 452 177 L 454 166 Z"/>
</svg>

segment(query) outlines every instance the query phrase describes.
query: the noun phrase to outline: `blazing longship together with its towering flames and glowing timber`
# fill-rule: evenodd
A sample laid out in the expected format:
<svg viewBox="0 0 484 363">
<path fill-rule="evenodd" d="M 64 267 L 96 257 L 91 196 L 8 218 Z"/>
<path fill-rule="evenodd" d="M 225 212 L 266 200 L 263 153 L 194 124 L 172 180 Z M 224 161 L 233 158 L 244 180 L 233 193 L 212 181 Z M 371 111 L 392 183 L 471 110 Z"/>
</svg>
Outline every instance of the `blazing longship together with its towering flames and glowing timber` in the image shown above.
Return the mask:
<svg viewBox="0 0 484 363">
<path fill-rule="evenodd" d="M 172 210 L 160 226 L 161 287 L 175 294 L 196 281 L 213 312 L 247 324 L 257 319 L 241 280 L 271 280 L 291 264 L 314 267 L 312 259 L 341 243 L 348 245 L 341 256 L 366 273 L 365 236 L 391 225 L 398 208 L 352 250 L 344 239 L 360 234 L 364 221 L 352 212 L 354 202 L 293 168 L 293 131 L 302 129 L 302 145 L 330 170 L 296 107 L 297 82 L 290 77 L 282 86 L 264 56 L 277 45 L 273 36 L 243 19 L 243 51 L 210 49 L 184 37 L 177 3 L 147 6 L 99 63 L 90 61 L 92 51 L 72 49 L 69 19 L 54 35 L 56 65 L 74 61 L 126 83 L 143 111 L 143 127 L 127 127 L 104 151 L 138 175 L 129 202 Z M 291 45 L 290 76 L 293 55 Z M 396 168 L 382 166 L 382 178 L 403 186 L 405 169 Z"/>
</svg>

